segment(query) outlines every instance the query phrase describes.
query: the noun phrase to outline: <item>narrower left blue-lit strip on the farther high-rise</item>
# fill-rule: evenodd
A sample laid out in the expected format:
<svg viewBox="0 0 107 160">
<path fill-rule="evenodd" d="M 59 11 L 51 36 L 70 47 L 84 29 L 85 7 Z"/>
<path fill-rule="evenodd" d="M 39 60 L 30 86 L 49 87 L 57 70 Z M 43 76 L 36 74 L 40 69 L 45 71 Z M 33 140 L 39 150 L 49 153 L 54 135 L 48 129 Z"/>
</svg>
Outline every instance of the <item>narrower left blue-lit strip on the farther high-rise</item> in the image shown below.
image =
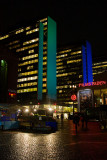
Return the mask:
<svg viewBox="0 0 107 160">
<path fill-rule="evenodd" d="M 83 83 L 87 83 L 87 60 L 85 46 L 82 45 Z"/>
</svg>

